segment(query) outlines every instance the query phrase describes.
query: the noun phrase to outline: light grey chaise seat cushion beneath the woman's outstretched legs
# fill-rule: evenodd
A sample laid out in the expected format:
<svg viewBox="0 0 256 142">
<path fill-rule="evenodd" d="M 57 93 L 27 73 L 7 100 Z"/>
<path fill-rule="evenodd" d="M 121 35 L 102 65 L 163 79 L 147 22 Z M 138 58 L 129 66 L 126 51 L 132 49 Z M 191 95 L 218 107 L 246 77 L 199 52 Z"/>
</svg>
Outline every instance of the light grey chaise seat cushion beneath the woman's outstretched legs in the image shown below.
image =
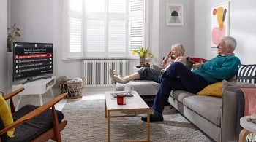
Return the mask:
<svg viewBox="0 0 256 142">
<path fill-rule="evenodd" d="M 133 80 L 127 84 L 132 85 L 139 95 L 156 95 L 160 84 L 148 80 Z M 116 91 L 124 91 L 125 84 L 116 83 Z"/>
</svg>

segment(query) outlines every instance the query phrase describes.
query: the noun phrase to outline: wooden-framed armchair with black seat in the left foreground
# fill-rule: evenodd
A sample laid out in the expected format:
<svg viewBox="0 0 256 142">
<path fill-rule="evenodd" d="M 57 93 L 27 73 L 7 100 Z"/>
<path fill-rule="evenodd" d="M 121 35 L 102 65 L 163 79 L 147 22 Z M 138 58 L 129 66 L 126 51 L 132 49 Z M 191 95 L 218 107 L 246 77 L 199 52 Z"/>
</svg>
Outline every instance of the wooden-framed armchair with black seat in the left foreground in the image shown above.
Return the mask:
<svg viewBox="0 0 256 142">
<path fill-rule="evenodd" d="M 23 90 L 24 88 L 20 88 L 4 95 L 4 100 L 10 99 L 10 109 L 14 122 L 0 129 L 0 136 L 15 127 L 15 138 L 7 138 L 7 141 L 48 141 L 49 139 L 61 141 L 60 132 L 66 127 L 67 120 L 62 121 L 64 115 L 61 111 L 56 110 L 54 105 L 63 99 L 67 93 L 49 100 L 42 106 L 26 105 L 15 111 L 12 97 Z M 41 132 L 38 132 L 38 130 Z"/>
</svg>

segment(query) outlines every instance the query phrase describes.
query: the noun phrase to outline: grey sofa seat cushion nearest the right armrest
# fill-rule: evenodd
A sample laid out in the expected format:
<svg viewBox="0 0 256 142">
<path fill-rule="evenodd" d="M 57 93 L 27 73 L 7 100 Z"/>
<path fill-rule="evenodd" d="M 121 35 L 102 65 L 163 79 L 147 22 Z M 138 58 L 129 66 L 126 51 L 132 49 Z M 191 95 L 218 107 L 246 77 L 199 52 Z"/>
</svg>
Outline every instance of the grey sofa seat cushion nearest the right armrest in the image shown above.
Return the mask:
<svg viewBox="0 0 256 142">
<path fill-rule="evenodd" d="M 184 106 L 205 117 L 215 125 L 221 125 L 222 98 L 195 95 L 183 99 Z"/>
</svg>

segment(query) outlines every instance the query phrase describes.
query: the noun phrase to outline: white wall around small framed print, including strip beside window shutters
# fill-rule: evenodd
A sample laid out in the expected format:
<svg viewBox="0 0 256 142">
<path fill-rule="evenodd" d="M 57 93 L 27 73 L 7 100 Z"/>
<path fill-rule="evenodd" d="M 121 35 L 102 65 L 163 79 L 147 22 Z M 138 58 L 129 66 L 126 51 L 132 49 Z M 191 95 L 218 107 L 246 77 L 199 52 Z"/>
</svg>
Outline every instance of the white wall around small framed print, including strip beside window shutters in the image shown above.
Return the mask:
<svg viewBox="0 0 256 142">
<path fill-rule="evenodd" d="M 184 25 L 169 26 L 165 25 L 166 3 L 184 4 Z M 193 55 L 193 0 L 154 0 L 150 1 L 151 9 L 149 20 L 149 45 L 156 58 L 152 63 L 161 63 L 162 58 L 170 51 L 172 44 L 184 44 L 186 48 L 185 56 Z"/>
</svg>

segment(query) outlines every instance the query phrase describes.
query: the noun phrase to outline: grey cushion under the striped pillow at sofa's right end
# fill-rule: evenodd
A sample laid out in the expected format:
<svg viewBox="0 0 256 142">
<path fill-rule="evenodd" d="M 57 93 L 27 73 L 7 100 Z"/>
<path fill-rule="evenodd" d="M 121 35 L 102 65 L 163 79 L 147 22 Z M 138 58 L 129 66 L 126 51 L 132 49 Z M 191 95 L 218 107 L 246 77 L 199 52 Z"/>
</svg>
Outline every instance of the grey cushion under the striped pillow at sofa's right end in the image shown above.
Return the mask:
<svg viewBox="0 0 256 142">
<path fill-rule="evenodd" d="M 222 92 L 234 91 L 239 88 L 256 88 L 256 84 L 246 83 L 246 82 L 227 82 L 227 80 L 222 81 Z"/>
</svg>

